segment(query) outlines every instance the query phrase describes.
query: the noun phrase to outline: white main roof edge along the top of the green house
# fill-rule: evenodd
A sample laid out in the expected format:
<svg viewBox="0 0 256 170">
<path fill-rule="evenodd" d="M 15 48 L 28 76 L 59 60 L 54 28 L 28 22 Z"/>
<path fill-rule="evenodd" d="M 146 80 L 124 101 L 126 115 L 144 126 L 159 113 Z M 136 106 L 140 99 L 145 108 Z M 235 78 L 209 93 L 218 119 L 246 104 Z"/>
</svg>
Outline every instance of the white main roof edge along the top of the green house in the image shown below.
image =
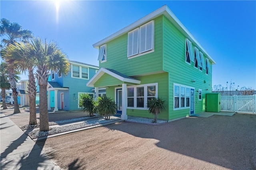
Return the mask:
<svg viewBox="0 0 256 170">
<path fill-rule="evenodd" d="M 94 48 L 99 49 L 99 47 L 108 41 L 111 41 L 117 37 L 120 37 L 121 35 L 124 35 L 125 33 L 128 33 L 129 31 L 132 31 L 133 29 L 141 26 L 142 24 L 153 20 L 154 18 L 157 18 L 158 16 L 164 15 L 166 16 L 177 28 L 180 30 L 192 43 L 194 43 L 200 51 L 205 53 L 208 57 L 208 59 L 212 62 L 212 64 L 216 64 L 216 62 L 210 57 L 210 55 L 206 52 L 206 50 L 198 43 L 198 41 L 193 37 L 193 35 L 184 27 L 184 25 L 178 20 L 178 18 L 172 13 L 172 11 L 168 8 L 168 6 L 164 5 L 158 10 L 155 10 L 154 12 L 148 14 L 147 16 L 141 18 L 140 20 L 135 21 L 134 23 L 128 25 L 127 27 L 124 27 L 123 29 L 117 31 L 116 33 L 102 39 L 101 41 L 98 41 L 94 45 L 92 45 Z"/>
</svg>

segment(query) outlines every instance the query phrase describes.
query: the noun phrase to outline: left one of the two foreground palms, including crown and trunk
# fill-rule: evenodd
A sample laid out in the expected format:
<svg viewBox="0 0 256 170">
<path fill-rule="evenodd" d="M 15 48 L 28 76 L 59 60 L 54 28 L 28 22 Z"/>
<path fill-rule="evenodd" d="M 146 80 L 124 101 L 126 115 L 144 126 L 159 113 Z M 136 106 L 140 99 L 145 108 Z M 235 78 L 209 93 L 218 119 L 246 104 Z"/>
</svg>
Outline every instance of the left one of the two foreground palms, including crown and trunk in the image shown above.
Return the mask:
<svg viewBox="0 0 256 170">
<path fill-rule="evenodd" d="M 5 50 L 2 51 L 2 56 L 9 64 L 16 64 L 16 67 L 24 73 L 28 71 L 28 96 L 29 96 L 29 111 L 30 119 L 29 125 L 36 125 L 36 82 L 34 77 L 34 67 L 36 60 L 28 53 L 29 43 L 9 44 Z"/>
</svg>

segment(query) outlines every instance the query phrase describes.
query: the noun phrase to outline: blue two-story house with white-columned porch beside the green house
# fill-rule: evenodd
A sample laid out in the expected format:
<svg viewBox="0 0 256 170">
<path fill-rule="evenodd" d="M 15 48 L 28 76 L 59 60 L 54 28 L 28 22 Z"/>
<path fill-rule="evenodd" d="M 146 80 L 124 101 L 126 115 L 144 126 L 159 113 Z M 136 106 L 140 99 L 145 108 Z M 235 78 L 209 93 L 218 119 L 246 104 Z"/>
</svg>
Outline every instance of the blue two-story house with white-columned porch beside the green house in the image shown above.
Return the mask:
<svg viewBox="0 0 256 170">
<path fill-rule="evenodd" d="M 70 61 L 70 65 L 70 72 L 66 76 L 51 72 L 47 86 L 47 92 L 50 94 L 48 110 L 51 107 L 54 107 L 54 111 L 78 110 L 80 109 L 79 94 L 88 93 L 92 97 L 95 96 L 94 88 L 87 87 L 86 83 L 99 70 L 99 67 L 77 61 Z M 101 95 L 106 95 L 106 89 L 99 89 L 99 96 Z"/>
</svg>

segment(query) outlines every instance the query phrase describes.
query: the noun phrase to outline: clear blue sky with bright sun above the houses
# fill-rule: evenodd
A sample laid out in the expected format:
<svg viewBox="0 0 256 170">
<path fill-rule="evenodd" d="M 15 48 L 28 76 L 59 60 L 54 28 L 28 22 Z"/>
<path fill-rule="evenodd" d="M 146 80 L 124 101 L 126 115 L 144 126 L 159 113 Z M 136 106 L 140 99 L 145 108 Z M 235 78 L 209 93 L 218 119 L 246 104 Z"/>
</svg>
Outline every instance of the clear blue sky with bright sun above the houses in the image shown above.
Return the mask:
<svg viewBox="0 0 256 170">
<path fill-rule="evenodd" d="M 0 1 L 1 18 L 56 41 L 70 60 L 98 66 L 92 44 L 167 5 L 217 64 L 212 86 L 256 89 L 256 1 Z M 27 76 L 22 75 L 22 79 Z M 240 87 L 238 89 L 240 89 Z"/>
</svg>

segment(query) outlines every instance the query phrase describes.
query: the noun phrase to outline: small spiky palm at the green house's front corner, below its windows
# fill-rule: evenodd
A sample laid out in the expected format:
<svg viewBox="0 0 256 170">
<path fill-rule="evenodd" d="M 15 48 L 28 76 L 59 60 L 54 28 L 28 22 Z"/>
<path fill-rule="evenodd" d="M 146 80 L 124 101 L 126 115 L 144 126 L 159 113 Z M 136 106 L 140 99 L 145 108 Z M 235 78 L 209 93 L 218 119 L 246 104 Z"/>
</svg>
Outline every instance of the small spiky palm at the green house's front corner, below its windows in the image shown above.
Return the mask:
<svg viewBox="0 0 256 170">
<path fill-rule="evenodd" d="M 157 115 L 160 114 L 162 111 L 165 110 L 164 108 L 165 100 L 162 98 L 152 98 L 151 100 L 147 101 L 146 107 L 148 108 L 148 112 L 155 115 L 154 123 L 157 123 Z"/>
</svg>

